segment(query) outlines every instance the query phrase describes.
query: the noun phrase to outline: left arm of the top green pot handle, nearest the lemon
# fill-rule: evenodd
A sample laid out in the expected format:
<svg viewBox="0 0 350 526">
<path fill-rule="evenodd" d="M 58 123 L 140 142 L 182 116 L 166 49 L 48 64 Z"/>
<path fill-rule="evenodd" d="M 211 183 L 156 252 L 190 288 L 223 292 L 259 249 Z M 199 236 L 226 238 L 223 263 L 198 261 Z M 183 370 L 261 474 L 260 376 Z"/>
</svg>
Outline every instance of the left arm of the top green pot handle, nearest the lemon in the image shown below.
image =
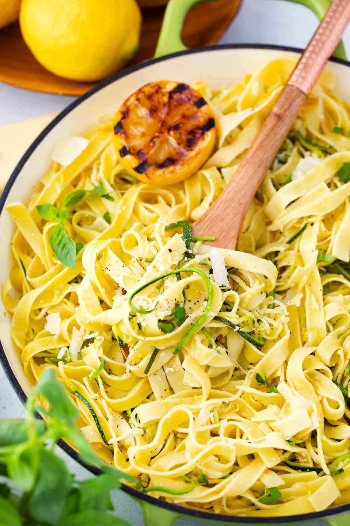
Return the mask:
<svg viewBox="0 0 350 526">
<path fill-rule="evenodd" d="M 183 21 L 187 13 L 194 5 L 213 1 L 215 0 L 170 0 L 164 13 L 155 57 L 188 49 L 181 40 Z"/>
</svg>

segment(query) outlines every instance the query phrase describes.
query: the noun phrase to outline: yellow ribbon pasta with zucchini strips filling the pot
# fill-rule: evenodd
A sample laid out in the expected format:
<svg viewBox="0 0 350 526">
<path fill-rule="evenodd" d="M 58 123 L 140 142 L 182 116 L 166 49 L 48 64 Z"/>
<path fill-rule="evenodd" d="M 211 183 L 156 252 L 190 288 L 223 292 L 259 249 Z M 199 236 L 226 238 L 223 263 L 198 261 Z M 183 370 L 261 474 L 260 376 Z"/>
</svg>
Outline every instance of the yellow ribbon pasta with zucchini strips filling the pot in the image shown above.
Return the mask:
<svg viewBox="0 0 350 526">
<path fill-rule="evenodd" d="M 181 183 L 133 181 L 105 120 L 28 206 L 7 206 L 3 301 L 26 376 L 55 367 L 100 456 L 195 509 L 265 517 L 349 498 L 350 108 L 331 73 L 266 174 L 239 250 L 190 242 L 293 66 L 195 86 L 218 145 Z M 74 268 L 55 256 L 54 230 L 74 240 Z"/>
</svg>

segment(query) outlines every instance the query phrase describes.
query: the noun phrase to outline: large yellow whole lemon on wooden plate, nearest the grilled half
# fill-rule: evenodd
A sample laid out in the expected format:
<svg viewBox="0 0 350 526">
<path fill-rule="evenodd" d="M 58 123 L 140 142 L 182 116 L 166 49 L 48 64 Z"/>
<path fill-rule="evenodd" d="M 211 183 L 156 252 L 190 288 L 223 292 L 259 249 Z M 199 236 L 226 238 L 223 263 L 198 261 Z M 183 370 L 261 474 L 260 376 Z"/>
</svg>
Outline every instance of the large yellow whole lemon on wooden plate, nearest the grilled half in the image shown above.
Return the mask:
<svg viewBox="0 0 350 526">
<path fill-rule="evenodd" d="M 99 80 L 135 54 L 141 12 L 136 0 L 23 0 L 25 43 L 50 72 L 72 80 Z"/>
</svg>

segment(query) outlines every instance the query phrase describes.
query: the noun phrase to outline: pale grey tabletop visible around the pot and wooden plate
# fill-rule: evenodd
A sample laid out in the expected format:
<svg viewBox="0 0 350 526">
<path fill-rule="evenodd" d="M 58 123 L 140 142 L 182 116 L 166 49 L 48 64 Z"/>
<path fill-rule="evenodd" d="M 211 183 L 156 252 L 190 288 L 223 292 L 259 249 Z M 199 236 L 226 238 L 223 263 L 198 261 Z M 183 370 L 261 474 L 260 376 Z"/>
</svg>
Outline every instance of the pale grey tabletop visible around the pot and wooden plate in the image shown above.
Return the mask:
<svg viewBox="0 0 350 526">
<path fill-rule="evenodd" d="M 265 43 L 304 47 L 315 31 L 315 16 L 303 6 L 286 3 L 283 0 L 243 0 L 239 15 L 234 19 L 222 43 Z M 350 27 L 344 37 L 345 47 L 350 56 Z M 74 100 L 74 97 L 28 92 L 0 83 L 0 126 L 17 120 L 57 112 Z M 22 417 L 24 409 L 0 369 L 0 418 Z M 88 476 L 87 470 L 60 451 L 77 478 Z M 138 505 L 121 491 L 116 492 L 115 502 L 121 517 L 133 526 L 143 526 Z M 177 521 L 177 526 L 199 526 L 208 522 L 187 519 Z M 312 526 L 321 523 L 313 523 Z M 162 525 L 159 525 L 162 526 Z"/>
</svg>

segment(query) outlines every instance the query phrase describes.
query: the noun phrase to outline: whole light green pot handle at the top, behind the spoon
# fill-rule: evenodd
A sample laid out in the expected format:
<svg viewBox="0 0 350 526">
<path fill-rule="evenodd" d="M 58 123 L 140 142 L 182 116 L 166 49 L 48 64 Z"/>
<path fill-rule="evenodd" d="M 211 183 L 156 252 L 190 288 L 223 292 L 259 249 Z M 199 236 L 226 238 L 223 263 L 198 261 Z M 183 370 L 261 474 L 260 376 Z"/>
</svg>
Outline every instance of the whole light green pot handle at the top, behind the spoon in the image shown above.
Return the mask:
<svg viewBox="0 0 350 526">
<path fill-rule="evenodd" d="M 155 57 L 175 53 L 188 49 L 181 41 L 181 31 L 184 18 L 191 7 L 204 2 L 215 0 L 170 0 L 164 13 L 163 24 L 161 27 Z M 288 0 L 296 4 L 302 4 L 311 9 L 315 15 L 322 20 L 331 0 Z M 346 60 L 346 53 L 343 42 L 340 42 L 335 49 L 334 56 Z"/>
</svg>

